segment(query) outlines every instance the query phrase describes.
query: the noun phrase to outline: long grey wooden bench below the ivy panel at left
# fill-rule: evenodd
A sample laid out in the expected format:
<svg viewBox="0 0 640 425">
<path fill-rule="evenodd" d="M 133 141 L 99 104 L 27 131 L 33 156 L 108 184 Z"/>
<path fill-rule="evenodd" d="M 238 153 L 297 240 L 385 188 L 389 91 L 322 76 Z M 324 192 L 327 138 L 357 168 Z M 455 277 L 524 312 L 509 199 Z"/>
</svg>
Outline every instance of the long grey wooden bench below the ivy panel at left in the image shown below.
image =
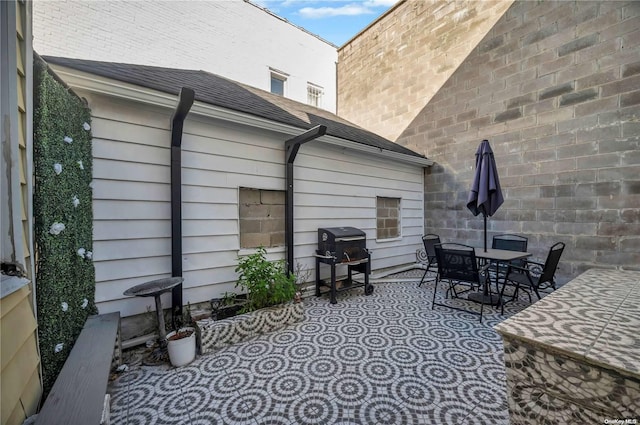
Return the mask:
<svg viewBox="0 0 640 425">
<path fill-rule="evenodd" d="M 120 313 L 89 316 L 35 423 L 99 425 L 103 419 L 108 423 L 109 373 L 121 353 Z"/>
</svg>

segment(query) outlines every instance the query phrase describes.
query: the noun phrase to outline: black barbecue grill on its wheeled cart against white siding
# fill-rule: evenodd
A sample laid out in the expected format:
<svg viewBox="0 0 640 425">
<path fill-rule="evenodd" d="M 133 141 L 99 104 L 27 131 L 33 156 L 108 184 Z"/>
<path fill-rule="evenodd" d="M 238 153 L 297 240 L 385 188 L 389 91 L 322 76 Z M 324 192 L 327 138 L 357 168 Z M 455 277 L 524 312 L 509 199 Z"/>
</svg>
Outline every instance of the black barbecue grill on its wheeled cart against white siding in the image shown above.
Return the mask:
<svg viewBox="0 0 640 425">
<path fill-rule="evenodd" d="M 365 295 L 373 293 L 369 283 L 371 273 L 371 253 L 366 248 L 366 234 L 355 227 L 334 227 L 318 229 L 318 250 L 316 251 L 316 296 L 322 295 L 321 287 L 329 287 L 331 304 L 335 304 L 340 291 L 364 286 Z M 331 267 L 331 278 L 320 279 L 320 264 Z M 336 287 L 336 265 L 346 265 L 347 279 L 341 288 Z M 353 272 L 364 275 L 364 282 L 353 279 Z"/>
</svg>

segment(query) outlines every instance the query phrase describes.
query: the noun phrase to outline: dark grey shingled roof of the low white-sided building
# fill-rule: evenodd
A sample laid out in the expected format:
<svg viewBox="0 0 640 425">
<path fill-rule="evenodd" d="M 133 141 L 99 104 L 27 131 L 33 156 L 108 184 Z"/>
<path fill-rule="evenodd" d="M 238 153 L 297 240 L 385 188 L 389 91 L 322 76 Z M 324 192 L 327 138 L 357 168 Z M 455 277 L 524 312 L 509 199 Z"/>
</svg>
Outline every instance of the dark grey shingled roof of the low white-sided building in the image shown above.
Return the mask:
<svg viewBox="0 0 640 425">
<path fill-rule="evenodd" d="M 206 71 L 132 65 L 43 56 L 50 64 L 178 95 L 182 87 L 195 90 L 196 100 L 255 115 L 301 129 L 325 125 L 327 134 L 368 146 L 424 158 L 404 146 L 340 118 L 324 109 L 277 96 Z"/>
</svg>

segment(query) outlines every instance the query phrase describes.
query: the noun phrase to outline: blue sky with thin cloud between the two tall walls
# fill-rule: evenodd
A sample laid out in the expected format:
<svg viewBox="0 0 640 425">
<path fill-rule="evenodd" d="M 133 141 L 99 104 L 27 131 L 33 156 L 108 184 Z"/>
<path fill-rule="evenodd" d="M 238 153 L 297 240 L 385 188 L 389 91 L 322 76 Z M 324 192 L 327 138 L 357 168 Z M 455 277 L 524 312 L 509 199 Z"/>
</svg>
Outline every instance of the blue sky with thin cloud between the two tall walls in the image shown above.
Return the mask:
<svg viewBox="0 0 640 425">
<path fill-rule="evenodd" d="M 340 47 L 397 0 L 251 0 Z"/>
</svg>

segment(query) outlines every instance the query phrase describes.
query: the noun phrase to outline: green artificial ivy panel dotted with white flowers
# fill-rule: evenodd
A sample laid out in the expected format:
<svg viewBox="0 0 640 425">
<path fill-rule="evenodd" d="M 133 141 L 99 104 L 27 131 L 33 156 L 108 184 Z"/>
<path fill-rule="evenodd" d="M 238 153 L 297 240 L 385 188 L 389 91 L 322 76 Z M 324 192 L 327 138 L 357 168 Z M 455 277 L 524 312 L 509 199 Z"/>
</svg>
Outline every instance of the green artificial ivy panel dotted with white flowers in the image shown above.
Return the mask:
<svg viewBox="0 0 640 425">
<path fill-rule="evenodd" d="M 44 392 L 95 306 L 91 114 L 34 58 L 34 239 Z"/>
</svg>

